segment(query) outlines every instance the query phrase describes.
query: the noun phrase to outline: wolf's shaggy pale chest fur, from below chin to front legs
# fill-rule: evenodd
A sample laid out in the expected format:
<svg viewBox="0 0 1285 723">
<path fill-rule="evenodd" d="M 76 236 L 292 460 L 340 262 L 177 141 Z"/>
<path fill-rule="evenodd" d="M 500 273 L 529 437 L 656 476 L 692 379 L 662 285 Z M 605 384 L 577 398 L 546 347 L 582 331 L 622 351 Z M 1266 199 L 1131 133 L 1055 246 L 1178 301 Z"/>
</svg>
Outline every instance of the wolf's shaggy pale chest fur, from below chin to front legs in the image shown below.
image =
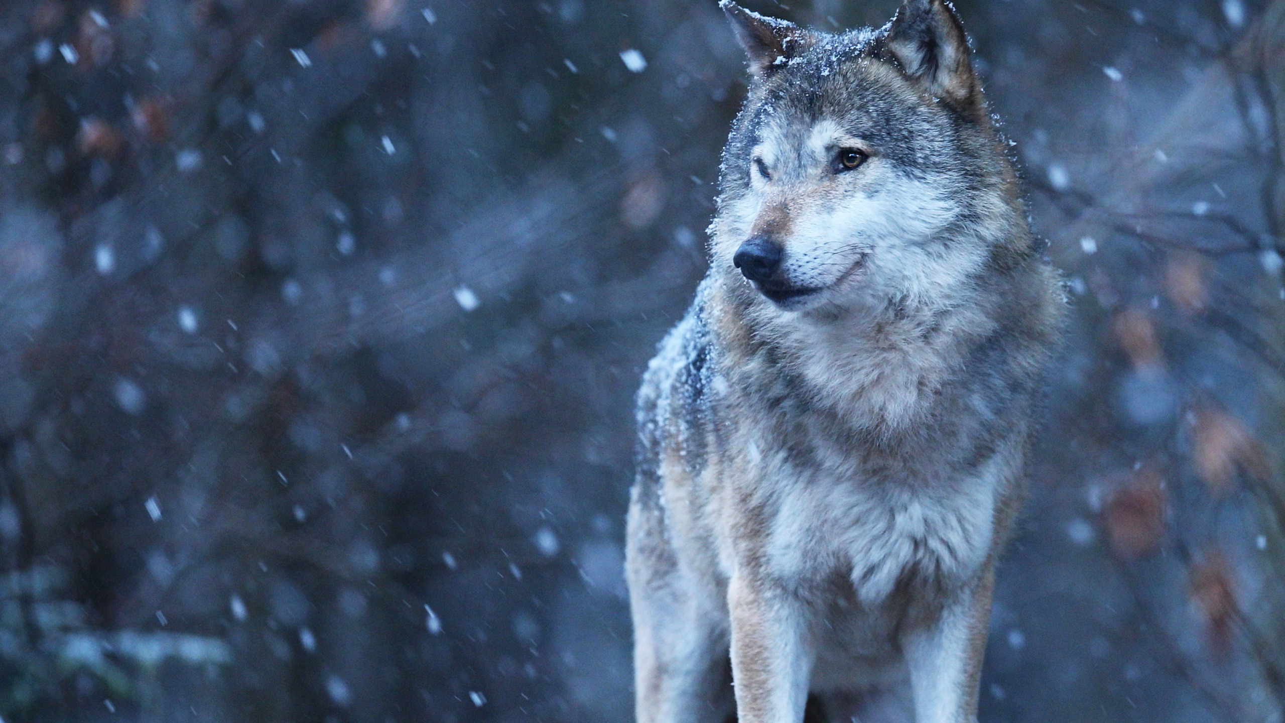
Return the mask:
<svg viewBox="0 0 1285 723">
<path fill-rule="evenodd" d="M 1010 470 L 989 449 L 968 464 L 984 446 L 970 428 L 980 419 L 950 418 L 968 394 L 961 360 L 934 338 L 947 331 L 924 327 L 875 338 L 795 329 L 789 358 L 732 350 L 714 369 L 712 467 L 759 498 L 750 515 L 774 576 L 822 587 L 843 574 L 874 605 L 900 583 L 950 585 L 983 562 Z"/>
</svg>

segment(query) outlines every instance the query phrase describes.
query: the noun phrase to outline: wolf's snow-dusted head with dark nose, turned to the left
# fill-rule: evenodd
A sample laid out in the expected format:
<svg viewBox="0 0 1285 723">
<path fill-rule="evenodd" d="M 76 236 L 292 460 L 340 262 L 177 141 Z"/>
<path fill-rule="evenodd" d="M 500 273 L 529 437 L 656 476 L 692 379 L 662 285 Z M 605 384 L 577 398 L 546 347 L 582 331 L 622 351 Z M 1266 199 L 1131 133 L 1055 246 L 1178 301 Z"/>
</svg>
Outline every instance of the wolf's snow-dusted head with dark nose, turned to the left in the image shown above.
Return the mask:
<svg viewBox="0 0 1285 723">
<path fill-rule="evenodd" d="M 1028 253 L 1025 216 L 944 0 L 821 33 L 721 6 L 750 90 L 723 149 L 717 271 L 783 311 L 953 304 Z"/>
</svg>

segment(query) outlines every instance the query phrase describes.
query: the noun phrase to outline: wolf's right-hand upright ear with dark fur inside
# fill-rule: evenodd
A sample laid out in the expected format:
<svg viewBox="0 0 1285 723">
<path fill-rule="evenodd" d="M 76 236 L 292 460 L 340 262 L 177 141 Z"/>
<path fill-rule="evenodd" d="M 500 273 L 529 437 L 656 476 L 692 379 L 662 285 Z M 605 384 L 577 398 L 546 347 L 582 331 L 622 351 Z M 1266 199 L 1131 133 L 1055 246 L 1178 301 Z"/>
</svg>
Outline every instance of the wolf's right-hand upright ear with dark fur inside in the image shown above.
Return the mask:
<svg viewBox="0 0 1285 723">
<path fill-rule="evenodd" d="M 977 87 L 964 26 L 946 0 L 905 0 L 887 42 L 906 75 L 933 95 L 964 100 Z"/>
</svg>

